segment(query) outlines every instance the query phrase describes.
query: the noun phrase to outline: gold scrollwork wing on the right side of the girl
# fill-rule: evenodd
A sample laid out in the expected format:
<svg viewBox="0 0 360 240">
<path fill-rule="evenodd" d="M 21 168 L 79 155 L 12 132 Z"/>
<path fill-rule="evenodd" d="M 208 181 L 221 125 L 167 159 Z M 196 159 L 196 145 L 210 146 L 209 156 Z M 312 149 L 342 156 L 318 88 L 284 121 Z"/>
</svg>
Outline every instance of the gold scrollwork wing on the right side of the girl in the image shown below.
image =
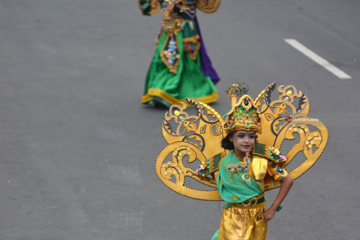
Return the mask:
<svg viewBox="0 0 360 240">
<path fill-rule="evenodd" d="M 289 175 L 296 179 L 320 158 L 328 142 L 328 130 L 319 119 L 309 116 L 310 103 L 305 93 L 292 85 L 282 85 L 277 88 L 279 97 L 274 98 L 271 95 L 274 95 L 275 88 L 276 82 L 271 83 L 255 99 L 263 129 L 258 141 L 280 149 L 285 140 L 298 139 L 295 144 L 291 144 L 292 148 L 285 155 L 287 165 L 298 153 L 302 152 L 305 156 L 305 159 L 289 172 Z M 279 186 L 280 183 L 276 182 L 270 189 Z"/>
</svg>

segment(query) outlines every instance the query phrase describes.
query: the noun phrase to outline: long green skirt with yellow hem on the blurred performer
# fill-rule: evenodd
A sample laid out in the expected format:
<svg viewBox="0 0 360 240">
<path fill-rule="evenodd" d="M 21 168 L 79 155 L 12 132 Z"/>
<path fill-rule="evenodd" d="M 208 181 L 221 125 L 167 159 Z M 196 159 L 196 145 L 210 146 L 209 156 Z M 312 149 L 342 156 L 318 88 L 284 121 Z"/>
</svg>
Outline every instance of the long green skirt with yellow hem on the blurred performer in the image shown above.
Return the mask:
<svg viewBox="0 0 360 240">
<path fill-rule="evenodd" d="M 219 94 L 211 78 L 201 71 L 200 54 L 197 53 L 195 60 L 190 58 L 184 52 L 183 32 L 177 32 L 175 37 L 180 54 L 176 73 L 170 72 L 161 59 L 163 46 L 168 44 L 167 31 L 164 31 L 146 76 L 141 103 L 153 104 L 157 100 L 170 107 L 185 102 L 185 98 L 196 98 L 204 103 L 216 101 Z"/>
</svg>

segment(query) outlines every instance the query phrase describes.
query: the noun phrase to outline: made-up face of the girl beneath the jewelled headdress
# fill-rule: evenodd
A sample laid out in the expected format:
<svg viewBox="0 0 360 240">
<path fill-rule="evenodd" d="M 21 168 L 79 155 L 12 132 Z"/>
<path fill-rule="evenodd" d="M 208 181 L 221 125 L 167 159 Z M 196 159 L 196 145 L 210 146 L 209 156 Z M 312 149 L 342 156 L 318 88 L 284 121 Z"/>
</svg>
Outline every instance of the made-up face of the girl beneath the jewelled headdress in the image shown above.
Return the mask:
<svg viewBox="0 0 360 240">
<path fill-rule="evenodd" d="M 255 131 L 238 130 L 235 131 L 229 139 L 234 144 L 235 154 L 246 153 L 250 151 L 255 144 Z"/>
</svg>

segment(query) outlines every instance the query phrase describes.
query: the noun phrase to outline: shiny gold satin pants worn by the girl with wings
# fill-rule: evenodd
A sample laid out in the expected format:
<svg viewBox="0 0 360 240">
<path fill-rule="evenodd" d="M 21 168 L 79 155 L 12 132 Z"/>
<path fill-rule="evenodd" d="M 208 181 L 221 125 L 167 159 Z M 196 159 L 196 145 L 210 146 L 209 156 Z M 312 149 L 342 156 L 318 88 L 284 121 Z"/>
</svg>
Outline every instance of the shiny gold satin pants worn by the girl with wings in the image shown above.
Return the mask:
<svg viewBox="0 0 360 240">
<path fill-rule="evenodd" d="M 249 207 L 230 204 L 222 210 L 218 240 L 265 240 L 267 223 L 256 220 L 266 210 L 262 202 Z"/>
</svg>

